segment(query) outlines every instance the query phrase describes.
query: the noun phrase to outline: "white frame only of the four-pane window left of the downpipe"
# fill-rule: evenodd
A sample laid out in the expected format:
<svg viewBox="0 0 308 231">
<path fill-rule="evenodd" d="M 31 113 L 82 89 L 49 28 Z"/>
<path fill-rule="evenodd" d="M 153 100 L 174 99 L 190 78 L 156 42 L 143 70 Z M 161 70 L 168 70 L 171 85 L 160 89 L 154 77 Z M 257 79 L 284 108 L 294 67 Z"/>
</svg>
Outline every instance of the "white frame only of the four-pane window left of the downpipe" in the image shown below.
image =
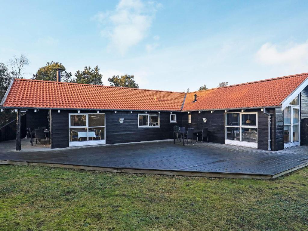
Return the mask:
<svg viewBox="0 0 308 231">
<path fill-rule="evenodd" d="M 239 116 L 240 116 L 240 125 L 239 126 L 227 125 L 226 114 L 235 114 L 235 113 L 239 114 Z M 256 126 L 242 125 L 242 115 L 243 114 L 256 114 Z M 242 135 L 241 135 L 242 128 L 257 128 L 258 129 L 258 112 L 225 112 L 224 120 L 225 120 L 225 144 L 232 144 L 232 145 L 239 145 L 239 146 L 245 146 L 245 147 L 251 147 L 251 148 L 258 148 L 258 140 L 257 140 L 256 143 L 243 141 Z M 228 127 L 240 129 L 240 140 L 227 140 L 226 130 L 227 130 Z M 259 137 L 259 129 L 257 130 L 257 132 L 258 132 L 258 137 Z"/>
</svg>

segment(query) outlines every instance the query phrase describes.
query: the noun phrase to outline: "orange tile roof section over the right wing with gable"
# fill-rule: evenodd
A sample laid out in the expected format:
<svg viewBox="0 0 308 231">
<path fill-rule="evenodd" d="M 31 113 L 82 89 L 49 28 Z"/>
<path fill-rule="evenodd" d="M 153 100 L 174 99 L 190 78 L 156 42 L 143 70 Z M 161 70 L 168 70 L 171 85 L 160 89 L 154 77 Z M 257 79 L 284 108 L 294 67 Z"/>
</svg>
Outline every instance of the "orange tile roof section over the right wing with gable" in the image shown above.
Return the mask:
<svg viewBox="0 0 308 231">
<path fill-rule="evenodd" d="M 308 73 L 189 92 L 183 111 L 280 106 Z M 197 101 L 193 102 L 194 94 Z"/>
</svg>

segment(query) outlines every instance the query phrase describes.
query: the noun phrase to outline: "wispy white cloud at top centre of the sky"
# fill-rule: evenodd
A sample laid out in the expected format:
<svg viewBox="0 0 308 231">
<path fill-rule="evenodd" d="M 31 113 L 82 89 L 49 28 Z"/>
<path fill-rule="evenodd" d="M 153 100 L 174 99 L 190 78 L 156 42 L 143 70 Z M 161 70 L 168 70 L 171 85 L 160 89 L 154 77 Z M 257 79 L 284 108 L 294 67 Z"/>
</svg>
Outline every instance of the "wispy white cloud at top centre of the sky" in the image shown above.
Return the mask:
<svg viewBox="0 0 308 231">
<path fill-rule="evenodd" d="M 91 19 L 104 26 L 100 34 L 109 39 L 109 50 L 116 49 L 124 55 L 148 35 L 160 7 L 161 4 L 156 2 L 121 0 L 115 10 L 98 12 Z"/>
</svg>

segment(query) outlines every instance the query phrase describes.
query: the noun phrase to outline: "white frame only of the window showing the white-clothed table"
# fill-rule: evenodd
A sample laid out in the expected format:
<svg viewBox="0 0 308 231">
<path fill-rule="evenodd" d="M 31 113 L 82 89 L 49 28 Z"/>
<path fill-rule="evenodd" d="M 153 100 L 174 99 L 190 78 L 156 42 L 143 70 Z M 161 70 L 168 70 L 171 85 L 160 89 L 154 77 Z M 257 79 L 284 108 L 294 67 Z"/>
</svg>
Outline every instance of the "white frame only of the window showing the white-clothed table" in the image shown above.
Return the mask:
<svg viewBox="0 0 308 231">
<path fill-rule="evenodd" d="M 95 126 L 89 127 L 89 114 L 103 114 L 105 126 Z M 87 123 L 86 126 L 71 126 L 71 115 L 86 115 Z M 70 128 L 87 128 L 87 140 L 85 141 L 70 141 Z M 89 140 L 89 128 L 104 128 L 104 140 Z M 68 137 L 69 137 L 69 147 L 74 146 L 84 146 L 84 145 L 96 145 L 96 144 L 106 144 L 106 114 L 105 113 L 68 113 Z"/>
</svg>

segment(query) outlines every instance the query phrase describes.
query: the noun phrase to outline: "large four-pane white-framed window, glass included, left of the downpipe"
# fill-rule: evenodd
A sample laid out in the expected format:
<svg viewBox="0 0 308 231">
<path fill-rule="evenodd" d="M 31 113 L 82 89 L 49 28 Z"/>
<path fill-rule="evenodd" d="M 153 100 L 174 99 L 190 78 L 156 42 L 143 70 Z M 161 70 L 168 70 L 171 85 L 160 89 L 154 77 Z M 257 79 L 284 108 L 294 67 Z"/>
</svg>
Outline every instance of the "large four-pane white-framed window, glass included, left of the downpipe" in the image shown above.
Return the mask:
<svg viewBox="0 0 308 231">
<path fill-rule="evenodd" d="M 225 144 L 237 144 L 257 148 L 258 113 L 225 113 Z"/>
</svg>

